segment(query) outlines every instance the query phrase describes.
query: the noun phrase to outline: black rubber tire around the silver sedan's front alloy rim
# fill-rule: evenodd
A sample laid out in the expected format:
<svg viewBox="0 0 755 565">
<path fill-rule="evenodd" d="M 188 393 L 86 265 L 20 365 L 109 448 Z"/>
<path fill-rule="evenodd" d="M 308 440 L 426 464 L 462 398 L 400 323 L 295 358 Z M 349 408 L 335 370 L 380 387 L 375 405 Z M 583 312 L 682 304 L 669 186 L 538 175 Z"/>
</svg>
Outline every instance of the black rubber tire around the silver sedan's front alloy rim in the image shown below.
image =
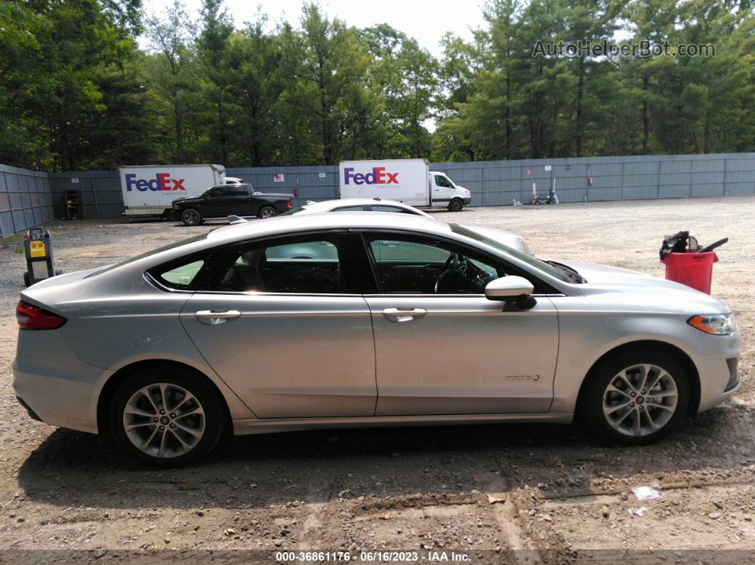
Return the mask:
<svg viewBox="0 0 755 565">
<path fill-rule="evenodd" d="M 661 404 L 670 402 L 670 400 L 655 396 L 652 399 L 653 401 L 646 402 L 646 396 L 650 398 L 653 397 L 653 395 L 649 390 L 646 390 L 646 394 L 640 394 L 643 392 L 643 389 L 634 392 L 629 388 L 625 388 L 625 390 L 630 392 L 630 395 L 634 393 L 633 396 L 624 393 L 609 393 L 606 390 L 609 387 L 609 384 L 621 385 L 622 379 L 618 378 L 618 375 L 624 370 L 642 364 L 653 365 L 664 370 L 667 375 L 670 376 L 673 385 L 676 387 L 676 407 L 674 408 L 673 413 L 671 413 L 670 418 L 655 431 L 649 431 L 652 430 L 649 425 L 650 419 L 653 419 L 655 425 L 658 425 L 658 422 L 667 418 L 665 413 L 670 412 L 670 410 L 665 408 L 661 409 L 656 404 L 653 404 L 653 401 L 658 401 L 660 399 L 661 402 L 658 402 L 657 404 Z M 651 373 L 650 379 L 653 379 L 654 376 L 658 374 L 655 370 L 649 371 L 649 373 Z M 638 379 L 641 379 L 642 377 L 640 375 L 642 374 L 642 370 L 638 370 L 637 374 Z M 618 381 L 616 380 L 617 378 Z M 676 428 L 676 426 L 680 425 L 680 422 L 685 418 L 687 408 L 689 407 L 689 377 L 676 359 L 665 352 L 655 349 L 630 349 L 612 355 L 604 361 L 601 361 L 596 367 L 593 367 L 593 370 L 590 371 L 590 375 L 587 376 L 587 379 L 589 379 L 585 383 L 587 388 L 584 390 L 584 395 L 581 398 L 581 406 L 579 407 L 581 416 L 584 417 L 587 425 L 595 431 L 599 438 L 612 444 L 645 445 L 658 441 L 661 438 L 665 438 L 674 428 Z M 663 388 L 667 383 L 667 379 L 661 379 L 656 388 Z M 659 390 L 655 392 L 655 395 L 658 395 L 659 392 L 673 393 L 673 390 Z M 606 416 L 603 411 L 605 400 L 604 395 L 606 394 L 612 395 L 615 399 L 612 400 L 612 402 L 615 402 L 613 406 L 624 404 L 628 401 L 630 402 L 630 407 L 633 408 L 627 407 L 621 411 L 615 411 L 615 416 Z M 651 408 L 647 408 L 648 406 Z M 611 408 L 612 406 L 608 407 L 609 410 L 611 410 Z M 627 413 L 626 410 L 629 410 L 629 412 Z M 625 418 L 628 422 L 619 425 L 625 428 L 629 426 L 630 423 L 634 422 L 635 416 L 638 416 L 640 427 L 643 428 L 642 435 L 628 435 L 622 433 L 609 423 L 609 417 L 617 420 L 625 413 L 627 414 Z"/>
</svg>

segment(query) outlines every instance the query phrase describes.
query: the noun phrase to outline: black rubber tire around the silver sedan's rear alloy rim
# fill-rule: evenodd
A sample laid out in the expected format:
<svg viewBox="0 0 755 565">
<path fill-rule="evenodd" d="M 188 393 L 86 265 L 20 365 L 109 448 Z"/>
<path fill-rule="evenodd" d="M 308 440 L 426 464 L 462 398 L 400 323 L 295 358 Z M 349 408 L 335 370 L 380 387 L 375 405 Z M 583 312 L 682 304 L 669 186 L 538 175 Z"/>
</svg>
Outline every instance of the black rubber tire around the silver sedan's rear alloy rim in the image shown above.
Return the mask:
<svg viewBox="0 0 755 565">
<path fill-rule="evenodd" d="M 189 450 L 186 450 L 185 453 L 173 454 L 171 456 L 156 456 L 150 453 L 145 453 L 145 451 L 140 450 L 140 448 L 131 441 L 125 431 L 124 416 L 128 402 L 140 391 L 140 389 L 158 383 L 166 383 L 168 385 L 174 385 L 185 389 L 196 398 L 199 407 L 202 408 L 204 413 L 202 435 L 199 438 L 199 441 L 197 441 L 197 443 Z M 162 406 L 159 402 L 156 405 L 158 407 Z M 176 407 L 174 406 L 173 410 L 175 410 L 175 408 Z M 178 410 L 175 410 L 174 413 L 178 413 Z M 162 416 L 156 414 L 156 416 L 162 418 L 165 416 L 173 416 L 173 414 L 165 413 L 162 414 Z M 192 417 L 193 416 L 188 416 L 188 418 Z M 143 421 L 149 422 L 150 419 L 151 418 L 145 418 Z M 186 423 L 187 418 L 186 416 L 178 416 L 175 421 Z M 143 433 L 149 434 L 152 431 L 150 428 L 154 428 L 160 423 L 161 422 L 158 422 L 158 424 L 154 426 L 151 424 L 144 425 Z M 109 425 L 110 431 L 116 439 L 116 443 L 119 444 L 125 452 L 134 457 L 134 459 L 154 467 L 176 468 L 202 459 L 202 457 L 210 453 L 210 451 L 217 445 L 217 442 L 223 437 L 223 433 L 228 426 L 227 406 L 222 395 L 217 392 L 217 388 L 214 388 L 214 385 L 205 379 L 205 377 L 192 373 L 191 370 L 183 371 L 177 370 L 174 367 L 156 366 L 153 368 L 138 370 L 120 385 L 110 404 Z M 167 425 L 165 427 L 167 427 Z M 156 434 L 159 433 L 159 431 L 156 431 Z M 184 438 L 186 438 L 186 436 L 184 436 Z M 154 447 L 157 447 L 157 441 L 153 442 L 153 445 Z M 180 449 L 180 444 L 177 443 L 177 436 L 172 432 L 168 434 L 168 441 L 166 443 L 166 446 L 170 445 Z M 159 449 L 159 447 L 157 448 Z"/>
</svg>

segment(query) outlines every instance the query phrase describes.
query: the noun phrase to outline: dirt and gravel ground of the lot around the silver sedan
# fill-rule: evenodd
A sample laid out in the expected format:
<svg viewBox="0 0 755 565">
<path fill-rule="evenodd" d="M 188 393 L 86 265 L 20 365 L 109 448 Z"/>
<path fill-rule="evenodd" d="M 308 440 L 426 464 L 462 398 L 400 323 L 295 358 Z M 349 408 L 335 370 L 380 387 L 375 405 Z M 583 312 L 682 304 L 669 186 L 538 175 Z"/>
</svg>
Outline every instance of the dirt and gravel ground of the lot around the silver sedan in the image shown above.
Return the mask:
<svg viewBox="0 0 755 565">
<path fill-rule="evenodd" d="M 663 276 L 663 235 L 719 250 L 713 295 L 738 317 L 741 387 L 651 447 L 599 444 L 583 425 L 312 431 L 235 438 L 191 468 L 140 468 L 108 437 L 34 422 L 11 362 L 23 254 L 0 248 L 0 562 L 328 562 L 300 551 L 392 549 L 365 560 L 467 563 L 755 560 L 755 197 L 439 211 L 522 235 L 538 256 Z M 57 222 L 66 272 L 209 229 Z M 657 483 L 661 496 L 631 489 Z M 646 508 L 641 517 L 630 509 Z M 254 551 L 249 551 L 254 550 Z M 435 553 L 433 553 L 435 552 Z M 445 552 L 445 553 L 443 553 Z M 452 554 L 455 552 L 455 554 Z"/>
</svg>

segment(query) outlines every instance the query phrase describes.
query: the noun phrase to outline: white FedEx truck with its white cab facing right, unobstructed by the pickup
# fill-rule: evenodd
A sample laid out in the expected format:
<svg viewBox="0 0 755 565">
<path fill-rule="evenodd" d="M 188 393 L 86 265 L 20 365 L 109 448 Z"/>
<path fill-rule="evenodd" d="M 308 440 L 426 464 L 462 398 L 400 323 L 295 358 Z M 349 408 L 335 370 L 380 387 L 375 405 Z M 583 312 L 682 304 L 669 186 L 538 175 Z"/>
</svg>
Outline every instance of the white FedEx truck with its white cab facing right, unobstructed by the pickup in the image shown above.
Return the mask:
<svg viewBox="0 0 755 565">
<path fill-rule="evenodd" d="M 384 198 L 411 206 L 447 206 L 458 212 L 472 194 L 445 173 L 430 170 L 424 159 L 341 161 L 341 198 Z"/>
</svg>

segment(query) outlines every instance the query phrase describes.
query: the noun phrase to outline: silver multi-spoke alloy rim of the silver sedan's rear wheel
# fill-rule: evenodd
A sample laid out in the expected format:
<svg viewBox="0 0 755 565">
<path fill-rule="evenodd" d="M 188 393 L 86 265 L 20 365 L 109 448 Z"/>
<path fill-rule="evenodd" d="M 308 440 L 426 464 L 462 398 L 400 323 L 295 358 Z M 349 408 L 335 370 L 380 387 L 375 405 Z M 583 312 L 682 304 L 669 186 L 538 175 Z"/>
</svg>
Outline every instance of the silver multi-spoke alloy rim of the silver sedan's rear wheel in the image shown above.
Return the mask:
<svg viewBox="0 0 755 565">
<path fill-rule="evenodd" d="M 156 382 L 134 392 L 123 409 L 129 441 L 149 456 L 166 459 L 190 452 L 205 433 L 205 410 L 186 388 Z"/>
</svg>

